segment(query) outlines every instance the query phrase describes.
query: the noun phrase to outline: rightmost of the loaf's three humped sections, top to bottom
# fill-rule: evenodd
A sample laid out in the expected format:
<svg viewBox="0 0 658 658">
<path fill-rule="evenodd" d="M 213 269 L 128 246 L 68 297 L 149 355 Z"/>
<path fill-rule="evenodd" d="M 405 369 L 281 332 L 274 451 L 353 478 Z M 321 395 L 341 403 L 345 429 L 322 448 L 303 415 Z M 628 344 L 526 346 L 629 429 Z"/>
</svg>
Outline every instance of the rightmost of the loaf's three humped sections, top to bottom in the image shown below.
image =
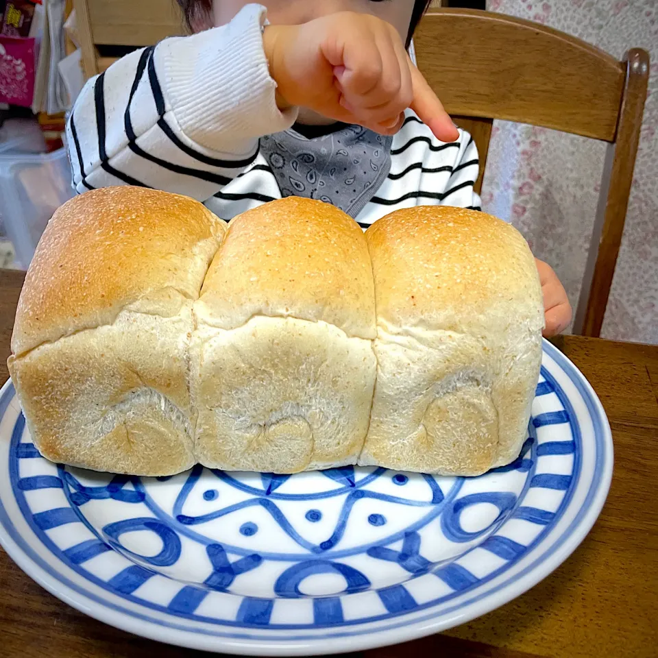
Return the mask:
<svg viewBox="0 0 658 658">
<path fill-rule="evenodd" d="M 366 237 L 377 384 L 358 463 L 445 475 L 507 464 L 526 437 L 544 310 L 526 241 L 474 210 L 398 210 Z"/>
</svg>

